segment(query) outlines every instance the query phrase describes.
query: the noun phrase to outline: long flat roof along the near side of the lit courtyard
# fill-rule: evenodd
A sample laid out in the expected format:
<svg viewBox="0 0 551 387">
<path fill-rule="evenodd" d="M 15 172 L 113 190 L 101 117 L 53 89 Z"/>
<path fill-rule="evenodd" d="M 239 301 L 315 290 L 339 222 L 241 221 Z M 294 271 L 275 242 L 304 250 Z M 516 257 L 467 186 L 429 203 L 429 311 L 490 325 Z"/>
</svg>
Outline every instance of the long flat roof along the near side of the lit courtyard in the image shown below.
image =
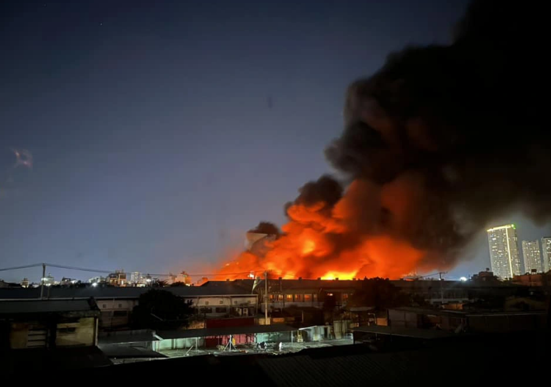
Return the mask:
<svg viewBox="0 0 551 387">
<path fill-rule="evenodd" d="M 252 335 L 261 333 L 289 332 L 296 328 L 283 325 L 250 325 L 250 326 L 228 326 L 222 328 L 203 328 L 203 329 L 185 329 L 172 331 L 158 331 L 156 335 L 166 338 L 186 338 L 186 337 L 208 337 L 208 336 L 227 336 L 227 335 Z"/>
</svg>

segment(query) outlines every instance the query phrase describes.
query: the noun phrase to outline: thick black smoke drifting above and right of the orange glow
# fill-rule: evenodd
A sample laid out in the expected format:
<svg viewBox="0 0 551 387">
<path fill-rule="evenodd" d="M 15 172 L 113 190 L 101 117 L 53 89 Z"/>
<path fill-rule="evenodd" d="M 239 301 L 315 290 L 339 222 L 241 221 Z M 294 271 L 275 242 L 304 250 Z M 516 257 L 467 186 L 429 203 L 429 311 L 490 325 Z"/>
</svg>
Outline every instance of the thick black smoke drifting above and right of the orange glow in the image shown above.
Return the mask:
<svg viewBox="0 0 551 387">
<path fill-rule="evenodd" d="M 434 253 L 429 260 L 451 264 L 491 219 L 515 209 L 550 217 L 544 14 L 537 2 L 474 2 L 452 44 L 407 47 L 348 89 L 344 132 L 326 156 L 383 198 L 390 187 L 391 205 L 374 205 L 369 193 L 366 206 L 380 212 L 381 230 Z M 403 213 L 402 196 L 412 203 Z"/>
</svg>

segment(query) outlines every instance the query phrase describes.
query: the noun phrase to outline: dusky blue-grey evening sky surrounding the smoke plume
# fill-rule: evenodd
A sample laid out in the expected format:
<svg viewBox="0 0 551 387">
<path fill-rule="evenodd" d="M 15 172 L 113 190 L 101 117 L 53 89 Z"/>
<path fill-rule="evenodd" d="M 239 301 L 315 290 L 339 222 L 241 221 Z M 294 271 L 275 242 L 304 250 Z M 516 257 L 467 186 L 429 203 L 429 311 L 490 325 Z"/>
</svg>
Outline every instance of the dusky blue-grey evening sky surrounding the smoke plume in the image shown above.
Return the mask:
<svg viewBox="0 0 551 387">
<path fill-rule="evenodd" d="M 214 271 L 331 172 L 347 85 L 407 44 L 449 42 L 466 3 L 2 2 L 0 268 Z M 489 266 L 485 238 L 450 276 Z M 24 276 L 40 268 L 0 272 Z"/>
</svg>

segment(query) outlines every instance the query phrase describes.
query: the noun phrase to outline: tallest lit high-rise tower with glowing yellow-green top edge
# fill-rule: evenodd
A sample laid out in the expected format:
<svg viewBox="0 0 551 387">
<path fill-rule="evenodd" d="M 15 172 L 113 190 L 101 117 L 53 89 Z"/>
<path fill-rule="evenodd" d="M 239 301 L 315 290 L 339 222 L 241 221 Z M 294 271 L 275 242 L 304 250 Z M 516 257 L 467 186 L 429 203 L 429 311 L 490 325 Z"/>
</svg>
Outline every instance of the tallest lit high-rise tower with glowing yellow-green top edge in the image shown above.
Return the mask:
<svg viewBox="0 0 551 387">
<path fill-rule="evenodd" d="M 514 224 L 489 228 L 491 271 L 502 280 L 520 275 L 521 264 L 518 255 L 518 239 Z"/>
</svg>

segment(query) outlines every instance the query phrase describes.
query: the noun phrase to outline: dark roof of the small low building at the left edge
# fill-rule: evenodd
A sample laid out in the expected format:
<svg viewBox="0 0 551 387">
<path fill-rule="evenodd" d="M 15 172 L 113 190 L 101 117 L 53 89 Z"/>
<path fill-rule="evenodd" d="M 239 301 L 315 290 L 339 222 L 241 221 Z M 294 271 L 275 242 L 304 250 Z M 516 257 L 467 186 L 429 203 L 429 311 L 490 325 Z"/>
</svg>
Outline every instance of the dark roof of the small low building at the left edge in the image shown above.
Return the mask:
<svg viewBox="0 0 551 387">
<path fill-rule="evenodd" d="M 61 313 L 72 311 L 98 311 L 88 300 L 17 300 L 0 301 L 0 315 L 24 313 Z"/>
</svg>

